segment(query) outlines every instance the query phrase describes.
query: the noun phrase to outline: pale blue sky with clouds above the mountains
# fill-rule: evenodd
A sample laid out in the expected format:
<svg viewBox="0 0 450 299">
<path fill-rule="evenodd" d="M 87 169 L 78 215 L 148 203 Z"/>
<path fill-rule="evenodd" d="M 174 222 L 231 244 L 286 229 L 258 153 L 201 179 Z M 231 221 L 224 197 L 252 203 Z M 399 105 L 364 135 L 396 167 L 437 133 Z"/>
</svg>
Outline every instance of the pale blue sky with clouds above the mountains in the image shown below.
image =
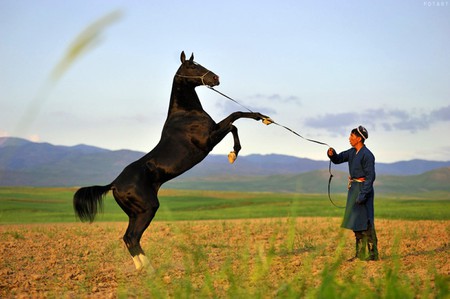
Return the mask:
<svg viewBox="0 0 450 299">
<path fill-rule="evenodd" d="M 95 42 L 56 79 L 89 25 Z M 218 91 L 343 151 L 358 125 L 378 162 L 448 161 L 450 1 L 0 0 L 0 137 L 150 151 L 180 53 L 220 76 Z M 53 78 L 53 79 L 52 79 Z M 219 122 L 245 111 L 196 89 Z M 327 160 L 327 147 L 250 119 L 240 155 Z M 213 154 L 228 154 L 229 134 Z"/>
</svg>

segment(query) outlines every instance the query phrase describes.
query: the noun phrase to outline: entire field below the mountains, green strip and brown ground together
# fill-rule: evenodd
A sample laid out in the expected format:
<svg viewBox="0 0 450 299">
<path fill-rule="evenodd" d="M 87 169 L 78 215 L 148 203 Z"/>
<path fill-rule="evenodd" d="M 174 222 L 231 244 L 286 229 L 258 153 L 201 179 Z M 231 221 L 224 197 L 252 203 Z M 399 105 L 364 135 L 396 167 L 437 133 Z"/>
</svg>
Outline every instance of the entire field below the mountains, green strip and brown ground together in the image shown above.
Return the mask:
<svg viewBox="0 0 450 299">
<path fill-rule="evenodd" d="M 378 196 L 381 260 L 347 262 L 353 235 L 324 194 L 164 190 L 142 239 L 156 272 L 137 273 L 114 199 L 87 225 L 73 214 L 74 191 L 0 188 L 0 297 L 450 296 L 448 194 Z"/>
</svg>

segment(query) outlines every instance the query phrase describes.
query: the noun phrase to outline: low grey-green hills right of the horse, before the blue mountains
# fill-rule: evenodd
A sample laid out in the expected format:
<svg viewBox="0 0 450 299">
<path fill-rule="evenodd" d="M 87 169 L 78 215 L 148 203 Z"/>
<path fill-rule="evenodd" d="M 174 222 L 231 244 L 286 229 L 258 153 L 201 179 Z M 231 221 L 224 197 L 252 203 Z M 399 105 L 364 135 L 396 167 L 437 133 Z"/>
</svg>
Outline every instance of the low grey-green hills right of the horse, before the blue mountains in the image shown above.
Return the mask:
<svg viewBox="0 0 450 299">
<path fill-rule="evenodd" d="M 215 176 L 179 178 L 166 183 L 166 188 L 193 190 L 225 190 L 248 192 L 327 193 L 328 170 L 315 170 L 296 175 Z M 379 193 L 412 194 L 420 192 L 450 192 L 450 167 L 419 175 L 379 175 L 375 181 Z M 347 173 L 333 171 L 332 193 L 347 191 Z"/>
</svg>

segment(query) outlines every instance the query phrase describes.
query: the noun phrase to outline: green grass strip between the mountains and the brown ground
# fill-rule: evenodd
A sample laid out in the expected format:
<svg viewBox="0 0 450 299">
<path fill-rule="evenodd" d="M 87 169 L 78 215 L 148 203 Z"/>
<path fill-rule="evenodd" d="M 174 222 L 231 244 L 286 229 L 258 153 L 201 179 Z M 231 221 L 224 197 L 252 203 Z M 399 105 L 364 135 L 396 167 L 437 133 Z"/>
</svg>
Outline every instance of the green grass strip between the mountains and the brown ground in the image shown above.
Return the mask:
<svg viewBox="0 0 450 299">
<path fill-rule="evenodd" d="M 74 188 L 0 188 L 0 223 L 74 222 Z M 326 194 L 250 193 L 162 190 L 155 221 L 250 219 L 273 217 L 341 217 Z M 343 206 L 345 194 L 333 194 Z M 423 193 L 378 195 L 376 218 L 449 220 L 450 195 Z M 105 198 L 104 213 L 96 221 L 127 221 L 114 198 Z"/>
</svg>

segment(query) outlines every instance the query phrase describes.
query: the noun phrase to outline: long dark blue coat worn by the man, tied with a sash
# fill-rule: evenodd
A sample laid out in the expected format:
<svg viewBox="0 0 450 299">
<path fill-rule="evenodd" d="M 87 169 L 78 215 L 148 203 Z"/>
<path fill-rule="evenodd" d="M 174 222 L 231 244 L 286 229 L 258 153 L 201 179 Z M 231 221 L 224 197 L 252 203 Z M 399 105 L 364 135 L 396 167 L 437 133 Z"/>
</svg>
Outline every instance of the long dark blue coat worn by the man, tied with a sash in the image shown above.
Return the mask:
<svg viewBox="0 0 450 299">
<path fill-rule="evenodd" d="M 375 156 L 363 146 L 358 153 L 351 148 L 339 154 L 329 156 L 334 164 L 348 162 L 350 178 L 364 178 L 364 182 L 351 182 L 345 206 L 345 215 L 341 227 L 353 231 L 367 230 L 368 224 L 374 226 L 374 190 Z"/>
</svg>

